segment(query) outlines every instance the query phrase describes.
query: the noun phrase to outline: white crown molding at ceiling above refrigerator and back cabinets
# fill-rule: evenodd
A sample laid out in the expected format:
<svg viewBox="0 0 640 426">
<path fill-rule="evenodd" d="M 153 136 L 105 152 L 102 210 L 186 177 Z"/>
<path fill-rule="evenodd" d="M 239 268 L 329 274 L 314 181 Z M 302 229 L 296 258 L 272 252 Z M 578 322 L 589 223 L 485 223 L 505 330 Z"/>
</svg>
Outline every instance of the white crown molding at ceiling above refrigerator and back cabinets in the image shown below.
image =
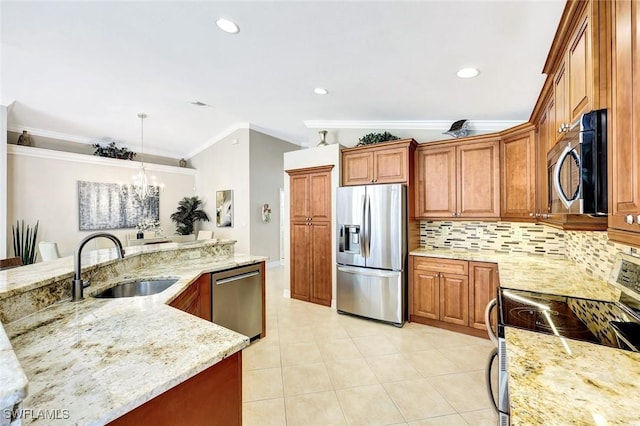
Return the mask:
<svg viewBox="0 0 640 426">
<path fill-rule="evenodd" d="M 388 129 L 449 130 L 456 120 L 305 120 L 308 129 Z M 525 120 L 469 120 L 469 130 L 498 132 L 524 123 Z"/>
</svg>

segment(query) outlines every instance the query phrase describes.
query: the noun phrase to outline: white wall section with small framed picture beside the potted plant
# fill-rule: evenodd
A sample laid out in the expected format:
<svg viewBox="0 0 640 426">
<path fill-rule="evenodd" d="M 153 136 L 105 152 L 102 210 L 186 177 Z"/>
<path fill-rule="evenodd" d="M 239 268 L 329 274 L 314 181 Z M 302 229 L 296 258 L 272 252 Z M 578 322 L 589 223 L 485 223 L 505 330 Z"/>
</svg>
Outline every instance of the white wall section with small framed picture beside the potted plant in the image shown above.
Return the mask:
<svg viewBox="0 0 640 426">
<path fill-rule="evenodd" d="M 237 241 L 236 253 L 250 253 L 249 129 L 238 129 L 189 159 L 197 169 L 196 194 L 204 201 L 210 222 L 199 229 L 213 230 L 215 238 Z M 216 227 L 216 191 L 233 190 L 233 227 Z"/>
</svg>

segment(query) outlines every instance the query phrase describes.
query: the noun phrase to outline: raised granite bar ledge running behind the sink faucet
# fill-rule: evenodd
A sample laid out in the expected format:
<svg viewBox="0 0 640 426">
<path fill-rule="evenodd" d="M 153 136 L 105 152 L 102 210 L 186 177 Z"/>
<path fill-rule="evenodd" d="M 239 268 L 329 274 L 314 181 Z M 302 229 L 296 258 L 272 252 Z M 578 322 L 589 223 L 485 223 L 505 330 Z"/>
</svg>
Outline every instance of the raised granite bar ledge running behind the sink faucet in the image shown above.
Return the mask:
<svg viewBox="0 0 640 426">
<path fill-rule="evenodd" d="M 194 249 L 206 246 L 225 246 L 235 244 L 236 240 L 196 240 L 185 243 L 150 244 L 144 246 L 124 247 L 125 258 L 133 258 L 147 253 L 159 253 L 178 249 Z M 83 270 L 93 266 L 106 266 L 116 263 L 115 248 L 87 250 L 82 255 Z M 0 271 L 0 299 L 18 293 L 33 290 L 63 279 L 71 279 L 74 275 L 73 255 L 61 257 L 48 262 L 38 262 L 20 268 Z M 18 286 L 15 283 L 19 283 Z"/>
</svg>

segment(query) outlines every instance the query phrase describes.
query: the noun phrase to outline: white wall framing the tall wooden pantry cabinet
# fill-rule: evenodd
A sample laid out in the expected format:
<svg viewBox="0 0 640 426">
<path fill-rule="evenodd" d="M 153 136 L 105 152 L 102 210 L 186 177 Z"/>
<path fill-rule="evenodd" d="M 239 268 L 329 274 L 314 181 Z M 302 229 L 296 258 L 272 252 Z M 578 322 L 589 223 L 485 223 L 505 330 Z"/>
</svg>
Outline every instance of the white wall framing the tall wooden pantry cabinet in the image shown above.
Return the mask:
<svg viewBox="0 0 640 426">
<path fill-rule="evenodd" d="M 284 169 L 295 170 L 304 169 L 307 167 L 326 166 L 333 165 L 331 171 L 331 222 L 332 226 L 336 227 L 336 188 L 340 186 L 341 170 L 340 170 L 340 150 L 343 147 L 340 145 L 327 145 L 316 148 L 310 148 L 300 151 L 287 152 L 284 154 Z M 284 173 L 284 193 L 285 193 L 285 211 L 284 215 L 284 259 L 285 259 L 285 275 L 287 277 L 286 282 L 290 283 L 290 269 L 291 262 L 291 233 L 290 233 L 290 220 L 289 220 L 289 203 L 290 203 L 290 188 L 289 188 L 289 175 Z M 336 298 L 336 233 L 331 235 L 331 293 L 332 300 L 331 306 L 335 308 Z M 290 289 L 285 288 L 284 296 L 290 297 Z"/>
</svg>

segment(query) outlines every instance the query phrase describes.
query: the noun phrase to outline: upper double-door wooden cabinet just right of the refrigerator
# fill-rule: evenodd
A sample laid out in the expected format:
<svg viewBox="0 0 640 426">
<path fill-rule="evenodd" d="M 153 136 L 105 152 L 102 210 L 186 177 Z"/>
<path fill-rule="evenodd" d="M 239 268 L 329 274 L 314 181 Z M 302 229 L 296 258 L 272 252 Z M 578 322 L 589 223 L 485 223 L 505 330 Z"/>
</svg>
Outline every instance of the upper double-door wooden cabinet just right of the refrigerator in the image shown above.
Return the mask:
<svg viewBox="0 0 640 426">
<path fill-rule="evenodd" d="M 428 143 L 416 150 L 416 216 L 500 216 L 499 137 Z"/>
</svg>

